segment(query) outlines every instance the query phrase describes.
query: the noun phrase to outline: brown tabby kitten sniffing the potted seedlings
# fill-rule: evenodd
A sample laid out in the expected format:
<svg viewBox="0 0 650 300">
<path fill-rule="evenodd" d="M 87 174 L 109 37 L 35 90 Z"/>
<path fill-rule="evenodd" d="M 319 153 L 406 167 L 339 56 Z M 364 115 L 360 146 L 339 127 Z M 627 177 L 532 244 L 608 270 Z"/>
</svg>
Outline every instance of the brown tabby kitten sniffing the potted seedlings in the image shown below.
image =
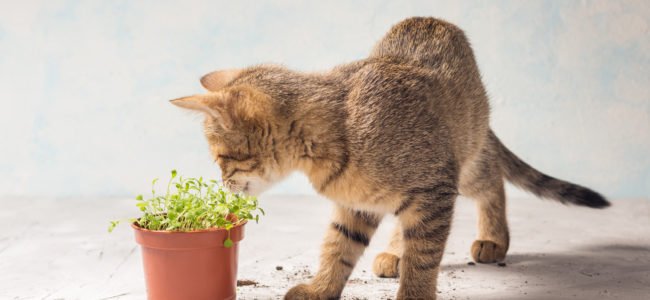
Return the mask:
<svg viewBox="0 0 650 300">
<path fill-rule="evenodd" d="M 172 103 L 205 114 L 229 189 L 259 194 L 298 170 L 335 203 L 318 273 L 285 299 L 339 298 L 386 214 L 398 225 L 373 272 L 400 278 L 397 299 L 435 299 L 459 194 L 478 208 L 472 258 L 505 259 L 504 179 L 566 204 L 609 205 L 535 170 L 499 141 L 467 38 L 440 19 L 401 21 L 368 58 L 328 72 L 258 65 L 216 71 L 201 84 L 207 94 Z"/>
</svg>

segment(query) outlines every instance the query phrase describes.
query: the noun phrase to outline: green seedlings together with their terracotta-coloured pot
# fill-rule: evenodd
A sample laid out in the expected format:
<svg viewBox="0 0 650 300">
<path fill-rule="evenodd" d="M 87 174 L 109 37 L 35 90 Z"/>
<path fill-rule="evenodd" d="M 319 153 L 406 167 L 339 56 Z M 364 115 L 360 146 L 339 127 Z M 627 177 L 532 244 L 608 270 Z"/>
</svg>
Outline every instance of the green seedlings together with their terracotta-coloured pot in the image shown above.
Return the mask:
<svg viewBox="0 0 650 300">
<path fill-rule="evenodd" d="M 248 220 L 264 211 L 255 197 L 224 190 L 215 180 L 177 178 L 164 194 L 136 197 L 132 219 L 151 300 L 235 299 L 238 243 Z M 109 232 L 120 221 L 111 221 Z"/>
</svg>

